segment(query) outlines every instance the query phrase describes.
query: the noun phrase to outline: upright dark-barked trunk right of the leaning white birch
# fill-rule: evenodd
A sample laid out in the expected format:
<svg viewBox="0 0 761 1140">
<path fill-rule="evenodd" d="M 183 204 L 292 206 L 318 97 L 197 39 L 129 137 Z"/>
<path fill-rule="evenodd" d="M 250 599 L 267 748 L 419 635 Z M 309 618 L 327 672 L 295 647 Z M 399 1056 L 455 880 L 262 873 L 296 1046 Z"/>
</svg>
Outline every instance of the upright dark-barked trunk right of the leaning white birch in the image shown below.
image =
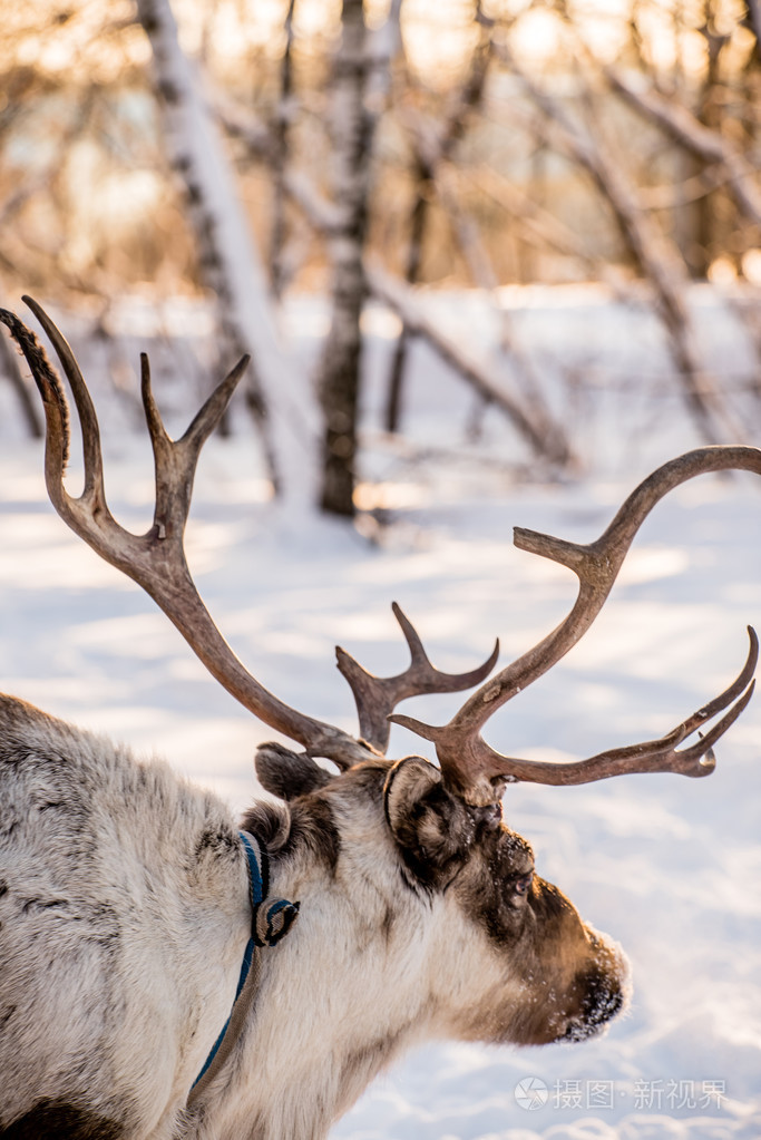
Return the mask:
<svg viewBox="0 0 761 1140">
<path fill-rule="evenodd" d="M 320 505 L 329 514 L 347 516 L 354 514 L 360 316 L 366 293 L 362 253 L 374 127 L 365 107 L 367 63 L 362 0 L 343 0 L 333 80 L 333 178 L 338 215 L 329 236 L 333 318 L 318 383 L 325 418 Z"/>
</svg>

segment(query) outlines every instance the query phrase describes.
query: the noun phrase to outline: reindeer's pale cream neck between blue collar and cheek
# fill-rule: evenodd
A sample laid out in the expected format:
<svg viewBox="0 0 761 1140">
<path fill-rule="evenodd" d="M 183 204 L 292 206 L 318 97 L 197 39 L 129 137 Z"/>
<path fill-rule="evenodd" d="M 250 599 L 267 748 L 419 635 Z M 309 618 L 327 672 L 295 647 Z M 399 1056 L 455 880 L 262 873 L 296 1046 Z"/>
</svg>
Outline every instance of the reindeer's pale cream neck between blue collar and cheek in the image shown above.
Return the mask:
<svg viewBox="0 0 761 1140">
<path fill-rule="evenodd" d="M 428 923 L 394 879 L 384 891 L 383 877 L 354 876 L 350 887 L 302 869 L 276 876 L 273 889 L 301 897 L 301 915 L 263 951 L 252 1017 L 210 1090 L 205 1115 L 220 1140 L 319 1140 L 429 1035 L 433 1003 L 420 986 Z"/>
</svg>

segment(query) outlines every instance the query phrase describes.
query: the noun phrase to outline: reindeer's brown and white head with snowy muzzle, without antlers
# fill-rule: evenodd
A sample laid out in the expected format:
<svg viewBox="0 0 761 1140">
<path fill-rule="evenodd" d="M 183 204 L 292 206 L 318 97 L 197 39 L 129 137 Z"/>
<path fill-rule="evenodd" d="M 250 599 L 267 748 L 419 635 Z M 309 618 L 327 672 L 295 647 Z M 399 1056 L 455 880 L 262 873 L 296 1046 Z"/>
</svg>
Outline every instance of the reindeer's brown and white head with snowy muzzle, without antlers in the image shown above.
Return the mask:
<svg viewBox="0 0 761 1140">
<path fill-rule="evenodd" d="M 422 1035 L 582 1041 L 625 1004 L 619 947 L 534 873 L 530 845 L 494 807 L 467 805 L 426 760 L 378 759 L 330 777 L 304 756 L 265 746 L 257 772 L 291 812 L 260 806 L 248 824 L 296 862 L 309 848 L 308 862 L 324 861 L 352 910 L 367 907 L 357 914 L 362 951 L 371 930 L 373 969 L 396 979 L 407 970 L 407 984 L 425 995 Z"/>
</svg>

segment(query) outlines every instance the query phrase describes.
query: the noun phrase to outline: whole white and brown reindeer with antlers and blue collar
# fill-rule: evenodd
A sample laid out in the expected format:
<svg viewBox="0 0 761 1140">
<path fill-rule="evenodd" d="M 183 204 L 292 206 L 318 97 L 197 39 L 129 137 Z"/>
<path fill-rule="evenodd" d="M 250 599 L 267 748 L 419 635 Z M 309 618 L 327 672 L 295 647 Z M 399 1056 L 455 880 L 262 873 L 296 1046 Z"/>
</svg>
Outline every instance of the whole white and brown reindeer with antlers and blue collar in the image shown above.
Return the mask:
<svg viewBox="0 0 761 1140">
<path fill-rule="evenodd" d="M 34 335 L 0 311 L 44 402 L 56 510 L 301 751 L 259 749 L 256 773 L 277 801 L 238 824 L 166 766 L 0 698 L 0 1137 L 316 1140 L 426 1039 L 535 1045 L 600 1032 L 625 1005 L 627 960 L 534 872 L 531 846 L 501 820 L 502 793 L 515 781 L 707 775 L 712 746 L 751 698 L 755 634 L 736 681 L 660 740 L 560 764 L 502 756 L 481 732 L 583 635 L 655 503 L 702 472 L 761 473 L 761 451 L 711 447 L 665 464 L 587 546 L 516 530 L 522 549 L 573 570 L 580 591 L 553 633 L 489 681 L 497 648 L 477 669 L 441 673 L 394 605 L 411 656 L 403 673 L 375 677 L 337 651 L 358 708 L 352 736 L 289 708 L 243 667 L 186 564 L 198 454 L 246 360 L 172 441 L 142 357 L 156 511 L 136 536 L 106 504 L 98 423 L 74 356 L 27 303 L 82 424 L 84 489 L 73 498 L 62 383 Z M 474 686 L 444 726 L 393 712 L 419 693 Z M 386 758 L 391 720 L 433 741 L 439 766 Z"/>
</svg>

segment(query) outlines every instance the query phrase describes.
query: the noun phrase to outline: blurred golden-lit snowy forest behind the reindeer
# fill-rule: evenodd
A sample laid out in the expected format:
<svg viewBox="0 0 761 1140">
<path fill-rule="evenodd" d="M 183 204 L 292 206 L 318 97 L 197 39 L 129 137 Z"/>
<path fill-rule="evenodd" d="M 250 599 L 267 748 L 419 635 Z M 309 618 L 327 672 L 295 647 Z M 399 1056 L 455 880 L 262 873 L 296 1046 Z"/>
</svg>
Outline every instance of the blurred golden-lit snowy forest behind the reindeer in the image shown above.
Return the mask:
<svg viewBox="0 0 761 1140">
<path fill-rule="evenodd" d="M 125 331 L 171 343 L 186 388 L 251 352 L 246 405 L 276 490 L 297 446 L 313 499 L 362 505 L 379 315 L 376 442 L 403 447 L 425 344 L 480 409 L 469 440 L 488 409 L 534 474 L 583 469 L 568 414 L 583 376 L 545 374 L 516 316 L 539 287 L 594 284 L 597 319 L 645 312 L 665 360 L 653 383 L 697 440 L 758 434 L 759 0 L 0 8 L 0 302 L 50 303 L 117 389 L 133 383 Z M 710 359 L 706 290 L 733 321 L 720 356 L 742 339 L 744 369 Z M 463 335 L 466 295 L 489 335 L 475 318 Z M 325 318 L 309 367 L 293 345 L 304 298 Z M 0 373 L 7 414 L 39 433 L 5 339 Z"/>
</svg>

